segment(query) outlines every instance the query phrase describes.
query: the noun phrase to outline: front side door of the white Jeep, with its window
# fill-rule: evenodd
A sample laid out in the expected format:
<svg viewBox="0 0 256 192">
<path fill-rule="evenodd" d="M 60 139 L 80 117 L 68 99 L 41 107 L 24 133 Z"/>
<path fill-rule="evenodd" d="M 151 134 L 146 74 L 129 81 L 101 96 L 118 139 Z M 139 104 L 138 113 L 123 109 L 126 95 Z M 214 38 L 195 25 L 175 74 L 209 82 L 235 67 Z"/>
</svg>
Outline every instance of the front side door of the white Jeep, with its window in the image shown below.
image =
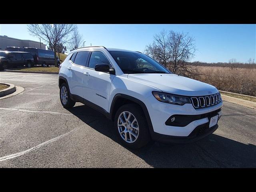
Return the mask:
<svg viewBox="0 0 256 192">
<path fill-rule="evenodd" d="M 83 83 L 87 90 L 84 91 L 84 98 L 108 112 L 110 86 L 114 75 L 95 71 L 96 64 L 108 64 L 112 68 L 104 52 L 92 51 L 88 68 L 84 70 Z"/>
</svg>

